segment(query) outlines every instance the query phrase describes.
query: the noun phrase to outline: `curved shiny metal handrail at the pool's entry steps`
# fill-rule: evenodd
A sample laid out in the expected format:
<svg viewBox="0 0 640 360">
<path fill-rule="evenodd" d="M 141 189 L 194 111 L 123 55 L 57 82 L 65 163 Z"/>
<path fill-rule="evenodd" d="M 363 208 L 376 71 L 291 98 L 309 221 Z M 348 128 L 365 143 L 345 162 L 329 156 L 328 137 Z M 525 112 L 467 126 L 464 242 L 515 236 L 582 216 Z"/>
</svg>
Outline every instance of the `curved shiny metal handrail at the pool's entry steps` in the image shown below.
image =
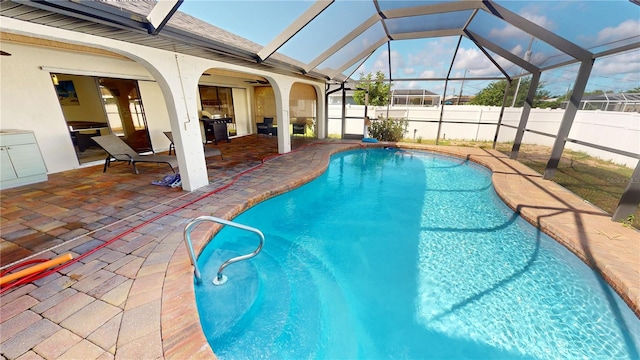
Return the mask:
<svg viewBox="0 0 640 360">
<path fill-rule="evenodd" d="M 222 263 L 222 265 L 220 265 L 220 268 L 218 269 L 218 275 L 215 277 L 215 279 L 213 279 L 213 283 L 215 285 L 222 285 L 227 282 L 227 277 L 222 274 L 222 270 L 224 270 L 224 268 L 226 268 L 227 266 L 235 262 L 251 259 L 252 257 L 258 255 L 260 250 L 262 250 L 262 245 L 264 245 L 264 234 L 262 234 L 262 231 L 256 228 L 253 228 L 251 226 L 238 224 L 233 221 L 217 218 L 215 216 L 199 216 L 193 219 L 184 228 L 184 241 L 187 245 L 187 251 L 189 252 L 189 258 L 191 259 L 191 264 L 193 265 L 193 273 L 196 276 L 196 279 L 198 279 L 198 281 L 202 281 L 202 276 L 200 274 L 200 269 L 198 269 L 198 262 L 196 261 L 196 255 L 195 255 L 195 252 L 193 251 L 193 245 L 191 243 L 191 230 L 193 230 L 193 228 L 195 228 L 198 224 L 200 224 L 203 221 L 212 221 L 212 222 L 220 223 L 223 225 L 233 226 L 238 229 L 251 231 L 253 233 L 256 233 L 260 238 L 260 244 L 253 252 L 246 255 L 236 256 L 234 258 L 231 258 L 225 261 L 224 263 Z"/>
</svg>

